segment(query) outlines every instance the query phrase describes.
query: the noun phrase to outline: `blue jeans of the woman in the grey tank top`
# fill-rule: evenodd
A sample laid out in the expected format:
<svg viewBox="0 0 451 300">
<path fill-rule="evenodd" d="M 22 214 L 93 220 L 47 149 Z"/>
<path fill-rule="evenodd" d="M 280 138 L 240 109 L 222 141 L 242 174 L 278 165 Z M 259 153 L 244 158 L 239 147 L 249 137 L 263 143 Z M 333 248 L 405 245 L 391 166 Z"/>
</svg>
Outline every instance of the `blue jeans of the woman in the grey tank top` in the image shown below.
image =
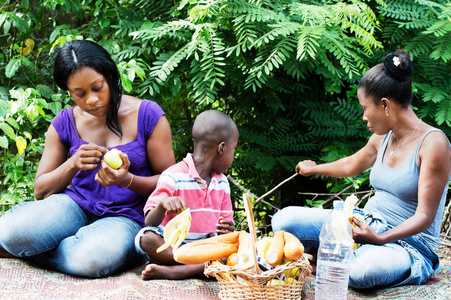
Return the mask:
<svg viewBox="0 0 451 300">
<path fill-rule="evenodd" d="M 272 229 L 274 232 L 291 232 L 303 243 L 306 251 L 310 248 L 318 249 L 321 227 L 330 211 L 286 207 L 272 218 Z M 377 214 L 365 216 L 365 222 L 377 233 L 389 229 L 384 219 Z M 363 244 L 355 249 L 353 254 L 349 275 L 349 286 L 353 288 L 421 284 L 438 266 L 435 261 L 436 254 L 430 252 L 417 238 L 381 246 Z"/>
</svg>

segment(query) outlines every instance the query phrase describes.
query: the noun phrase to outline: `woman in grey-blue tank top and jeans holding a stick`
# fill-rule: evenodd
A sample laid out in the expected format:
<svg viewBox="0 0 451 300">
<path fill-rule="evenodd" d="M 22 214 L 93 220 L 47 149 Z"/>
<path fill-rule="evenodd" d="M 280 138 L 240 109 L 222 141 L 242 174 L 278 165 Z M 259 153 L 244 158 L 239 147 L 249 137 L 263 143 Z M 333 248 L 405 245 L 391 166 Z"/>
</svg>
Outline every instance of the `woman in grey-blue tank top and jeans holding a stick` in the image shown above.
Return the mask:
<svg viewBox="0 0 451 300">
<path fill-rule="evenodd" d="M 425 282 L 439 266 L 440 221 L 451 177 L 451 147 L 438 129 L 411 107 L 413 68 L 404 50 L 371 68 L 357 90 L 363 121 L 374 134 L 355 154 L 317 165 L 301 161 L 303 176 L 356 176 L 372 168 L 376 193 L 353 218 L 354 241 L 349 286 L 389 287 Z M 274 231 L 296 235 L 316 254 L 321 226 L 330 210 L 287 207 L 272 219 Z M 357 212 L 357 211 L 356 211 Z M 312 256 L 314 260 L 314 256 Z"/>
</svg>

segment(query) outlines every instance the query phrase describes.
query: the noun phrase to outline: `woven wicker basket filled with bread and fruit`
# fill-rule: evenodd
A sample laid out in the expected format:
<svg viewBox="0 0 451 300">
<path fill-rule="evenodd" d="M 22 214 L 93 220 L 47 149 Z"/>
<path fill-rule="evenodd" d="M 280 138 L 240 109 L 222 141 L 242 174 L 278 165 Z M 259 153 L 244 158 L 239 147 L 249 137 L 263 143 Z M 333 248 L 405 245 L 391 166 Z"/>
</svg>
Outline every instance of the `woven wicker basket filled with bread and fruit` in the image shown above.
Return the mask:
<svg viewBox="0 0 451 300">
<path fill-rule="evenodd" d="M 295 276 L 287 277 L 277 283 L 271 281 L 279 275 L 294 272 Z M 288 272 L 287 272 L 288 271 Z M 243 271 L 227 265 L 212 265 L 207 263 L 205 275 L 214 276 L 219 282 L 220 299 L 301 299 L 305 278 L 312 272 L 307 258 L 303 255 L 299 260 L 278 266 L 272 270 L 256 274 L 253 271 Z M 220 273 L 228 274 L 232 280 L 226 280 Z M 294 278 L 296 281 L 293 281 Z M 268 283 L 268 285 L 267 285 Z"/>
</svg>

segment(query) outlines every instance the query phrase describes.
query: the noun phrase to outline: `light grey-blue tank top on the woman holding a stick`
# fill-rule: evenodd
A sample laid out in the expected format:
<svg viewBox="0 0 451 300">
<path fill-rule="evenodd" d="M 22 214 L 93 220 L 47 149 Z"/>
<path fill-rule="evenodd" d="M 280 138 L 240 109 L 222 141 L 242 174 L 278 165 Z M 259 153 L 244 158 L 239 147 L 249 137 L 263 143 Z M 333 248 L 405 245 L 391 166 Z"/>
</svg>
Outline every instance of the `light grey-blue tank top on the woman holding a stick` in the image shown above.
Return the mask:
<svg viewBox="0 0 451 300">
<path fill-rule="evenodd" d="M 415 214 L 418 206 L 418 180 L 420 175 L 420 167 L 417 163 L 418 154 L 424 138 L 432 131 L 442 132 L 439 129 L 431 129 L 426 132 L 421 137 L 409 158 L 397 168 L 388 168 L 382 164 L 382 159 L 392 132 L 390 131 L 385 135 L 379 148 L 376 162 L 370 173 L 370 183 L 376 190 L 376 193 L 365 205 L 365 214 L 377 212 L 393 227 L 398 226 Z M 450 179 L 448 179 L 448 183 L 442 193 L 434 221 L 428 229 L 418 234 L 435 251 L 440 243 L 440 224 Z"/>
</svg>

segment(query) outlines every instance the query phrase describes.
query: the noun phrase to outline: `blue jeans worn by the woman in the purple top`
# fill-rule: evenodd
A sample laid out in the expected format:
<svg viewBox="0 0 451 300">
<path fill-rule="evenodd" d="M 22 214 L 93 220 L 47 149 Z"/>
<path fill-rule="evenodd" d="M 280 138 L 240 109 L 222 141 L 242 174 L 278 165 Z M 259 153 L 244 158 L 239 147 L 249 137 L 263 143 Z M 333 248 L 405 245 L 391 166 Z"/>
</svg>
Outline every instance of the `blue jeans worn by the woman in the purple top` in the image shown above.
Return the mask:
<svg viewBox="0 0 451 300">
<path fill-rule="evenodd" d="M 134 246 L 140 229 L 129 218 L 99 218 L 56 194 L 20 203 L 0 217 L 0 248 L 45 268 L 104 277 L 141 262 Z"/>
</svg>

